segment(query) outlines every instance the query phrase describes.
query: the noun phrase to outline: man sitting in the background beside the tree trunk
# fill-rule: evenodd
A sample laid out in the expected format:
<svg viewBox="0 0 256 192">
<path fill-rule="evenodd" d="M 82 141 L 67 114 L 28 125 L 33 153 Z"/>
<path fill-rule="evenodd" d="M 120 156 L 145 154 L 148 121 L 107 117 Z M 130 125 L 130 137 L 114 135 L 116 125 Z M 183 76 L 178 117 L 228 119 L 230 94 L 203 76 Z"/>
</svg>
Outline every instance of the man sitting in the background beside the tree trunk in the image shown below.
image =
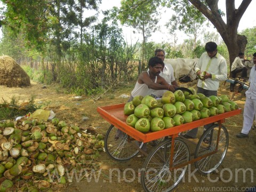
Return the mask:
<svg viewBox="0 0 256 192">
<path fill-rule="evenodd" d="M 231 65 L 231 77 L 236 78 L 236 74 L 242 71 L 241 77 L 247 77 L 248 68 L 243 65 L 242 61 L 249 61 L 247 59 L 244 60 L 244 53 L 238 53 L 238 57 L 235 58 Z M 230 91 L 234 91 L 234 84 L 230 84 Z"/>
</svg>

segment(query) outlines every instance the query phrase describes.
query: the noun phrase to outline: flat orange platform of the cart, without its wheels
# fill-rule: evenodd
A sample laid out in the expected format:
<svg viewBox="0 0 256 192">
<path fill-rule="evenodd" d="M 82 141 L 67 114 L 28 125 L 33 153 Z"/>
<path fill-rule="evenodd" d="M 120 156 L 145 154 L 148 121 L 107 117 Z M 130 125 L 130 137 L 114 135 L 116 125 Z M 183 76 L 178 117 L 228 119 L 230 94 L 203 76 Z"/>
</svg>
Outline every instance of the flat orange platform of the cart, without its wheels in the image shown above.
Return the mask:
<svg viewBox="0 0 256 192">
<path fill-rule="evenodd" d="M 196 127 L 203 126 L 209 123 L 218 122 L 221 124 L 225 122 L 225 118 L 238 115 L 241 113 L 241 109 L 236 109 L 223 114 L 199 119 L 197 121 L 193 121 L 183 125 L 174 126 L 169 129 L 164 129 L 157 132 L 141 133 L 136 129 L 134 129 L 132 126 L 126 124 L 126 118 L 128 116 L 124 115 L 124 105 L 125 103 L 110 105 L 110 106 L 102 106 L 102 107 L 98 107 L 97 111 L 110 124 L 116 126 L 119 130 L 122 130 L 126 134 L 130 135 L 135 140 L 138 140 L 144 143 L 153 141 L 165 136 L 178 135 L 180 132 L 194 129 Z"/>
</svg>

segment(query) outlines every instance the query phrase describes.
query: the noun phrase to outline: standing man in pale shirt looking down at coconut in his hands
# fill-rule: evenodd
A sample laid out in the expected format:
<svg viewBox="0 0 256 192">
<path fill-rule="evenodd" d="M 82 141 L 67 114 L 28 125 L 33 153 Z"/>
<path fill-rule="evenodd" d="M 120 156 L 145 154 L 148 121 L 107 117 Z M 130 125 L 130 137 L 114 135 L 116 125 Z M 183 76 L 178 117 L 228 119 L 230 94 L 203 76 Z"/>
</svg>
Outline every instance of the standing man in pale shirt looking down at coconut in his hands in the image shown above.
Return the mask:
<svg viewBox="0 0 256 192">
<path fill-rule="evenodd" d="M 203 73 L 203 71 L 206 72 L 202 80 L 198 79 L 197 93 L 203 93 L 206 97 L 211 95 L 217 96 L 220 81 L 225 81 L 228 77 L 227 61 L 218 53 L 216 43 L 206 43 L 205 50 L 206 52 L 201 55 L 195 67 L 197 76 Z M 212 124 L 207 124 L 204 128 L 208 129 L 211 126 Z M 190 130 L 183 137 L 194 139 L 196 138 L 197 131 L 198 128 Z"/>
</svg>

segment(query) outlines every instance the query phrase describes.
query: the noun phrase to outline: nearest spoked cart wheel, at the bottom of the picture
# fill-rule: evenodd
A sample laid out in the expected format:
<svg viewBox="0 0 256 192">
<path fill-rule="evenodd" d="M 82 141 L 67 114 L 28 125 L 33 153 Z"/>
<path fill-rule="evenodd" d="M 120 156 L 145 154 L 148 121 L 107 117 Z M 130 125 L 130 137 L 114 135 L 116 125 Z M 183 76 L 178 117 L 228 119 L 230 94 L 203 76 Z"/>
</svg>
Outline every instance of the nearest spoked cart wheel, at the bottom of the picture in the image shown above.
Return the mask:
<svg viewBox="0 0 256 192">
<path fill-rule="evenodd" d="M 141 184 L 145 191 L 170 191 L 181 181 L 188 165 L 170 171 L 170 153 L 172 139 L 159 143 L 147 156 L 142 166 Z M 173 165 L 178 166 L 189 161 L 187 144 L 177 138 L 174 142 Z"/>
</svg>

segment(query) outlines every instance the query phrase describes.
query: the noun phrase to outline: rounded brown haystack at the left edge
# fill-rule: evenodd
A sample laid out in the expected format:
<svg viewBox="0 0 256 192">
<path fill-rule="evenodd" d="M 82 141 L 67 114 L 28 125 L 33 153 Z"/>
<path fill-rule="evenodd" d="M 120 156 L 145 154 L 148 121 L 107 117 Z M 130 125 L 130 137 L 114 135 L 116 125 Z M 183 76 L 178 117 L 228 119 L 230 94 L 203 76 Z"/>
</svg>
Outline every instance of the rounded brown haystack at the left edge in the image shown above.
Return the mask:
<svg viewBox="0 0 256 192">
<path fill-rule="evenodd" d="M 7 87 L 29 86 L 30 78 L 14 59 L 3 55 L 0 57 L 0 85 Z"/>
</svg>

